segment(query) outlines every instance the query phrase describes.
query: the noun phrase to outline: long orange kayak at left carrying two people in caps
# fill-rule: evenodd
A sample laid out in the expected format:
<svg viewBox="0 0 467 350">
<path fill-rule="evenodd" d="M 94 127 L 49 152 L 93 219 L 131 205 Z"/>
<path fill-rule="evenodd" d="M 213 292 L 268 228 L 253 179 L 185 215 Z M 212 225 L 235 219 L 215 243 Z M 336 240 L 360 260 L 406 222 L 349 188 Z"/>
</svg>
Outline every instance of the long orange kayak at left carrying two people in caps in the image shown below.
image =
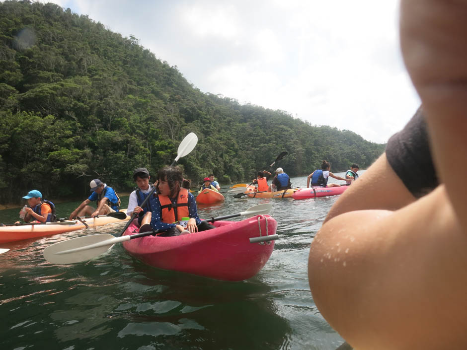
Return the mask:
<svg viewBox="0 0 467 350">
<path fill-rule="evenodd" d="M 126 212 L 126 209 L 120 210 Z M 82 220 L 89 227 L 103 226 L 110 223 L 118 223 L 128 221 L 130 216 L 126 219 L 117 219 L 110 216 L 88 217 Z M 84 224 L 78 220 L 69 220 L 63 222 L 45 222 L 33 224 L 20 224 L 11 226 L 0 226 L 0 243 L 21 241 L 23 239 L 51 236 L 54 234 L 76 231 L 85 228 Z"/>
</svg>

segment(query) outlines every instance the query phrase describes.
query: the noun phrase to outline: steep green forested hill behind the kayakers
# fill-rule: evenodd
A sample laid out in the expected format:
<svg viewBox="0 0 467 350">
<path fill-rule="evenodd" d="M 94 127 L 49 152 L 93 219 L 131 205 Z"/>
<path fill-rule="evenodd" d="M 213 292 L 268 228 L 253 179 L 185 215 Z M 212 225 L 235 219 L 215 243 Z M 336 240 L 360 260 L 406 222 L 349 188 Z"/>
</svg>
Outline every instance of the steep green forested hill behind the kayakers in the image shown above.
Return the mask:
<svg viewBox="0 0 467 350">
<path fill-rule="evenodd" d="M 134 37 L 70 9 L 0 2 L 1 203 L 31 189 L 82 198 L 93 178 L 127 191 L 133 169 L 155 174 L 189 132 L 198 145 L 179 163 L 194 184 L 210 172 L 221 183 L 248 181 L 284 150 L 277 165 L 296 176 L 322 159 L 333 171 L 353 162 L 365 168 L 384 149 L 350 131 L 203 93 Z"/>
</svg>

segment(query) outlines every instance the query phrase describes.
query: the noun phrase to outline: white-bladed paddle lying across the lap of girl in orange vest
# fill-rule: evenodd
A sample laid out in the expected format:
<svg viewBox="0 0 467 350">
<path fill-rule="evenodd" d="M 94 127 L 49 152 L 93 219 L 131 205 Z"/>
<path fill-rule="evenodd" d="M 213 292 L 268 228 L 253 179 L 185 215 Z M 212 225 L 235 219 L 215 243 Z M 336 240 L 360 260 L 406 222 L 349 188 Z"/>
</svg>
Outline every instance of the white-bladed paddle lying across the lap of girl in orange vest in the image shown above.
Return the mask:
<svg viewBox="0 0 467 350">
<path fill-rule="evenodd" d="M 245 211 L 236 214 L 213 217 L 206 221 L 214 222 L 237 216 L 251 217 L 259 214 L 267 214 L 271 210 L 271 204 L 259 204 L 250 207 Z M 108 233 L 93 234 L 68 239 L 66 241 L 52 244 L 44 249 L 44 258 L 53 264 L 74 264 L 82 261 L 90 260 L 112 248 L 116 243 L 129 241 L 140 237 L 155 235 L 163 231 L 148 231 L 137 233 L 134 235 L 126 235 L 115 237 Z"/>
</svg>

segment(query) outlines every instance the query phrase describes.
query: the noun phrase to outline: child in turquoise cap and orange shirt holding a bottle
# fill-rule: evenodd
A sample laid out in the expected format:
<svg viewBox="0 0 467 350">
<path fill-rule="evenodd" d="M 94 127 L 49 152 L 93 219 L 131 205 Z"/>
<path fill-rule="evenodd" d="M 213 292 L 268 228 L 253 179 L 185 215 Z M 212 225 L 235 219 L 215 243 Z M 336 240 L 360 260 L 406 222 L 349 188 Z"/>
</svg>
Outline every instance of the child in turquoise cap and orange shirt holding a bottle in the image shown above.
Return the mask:
<svg viewBox="0 0 467 350">
<path fill-rule="evenodd" d="M 37 190 L 29 191 L 23 197 L 27 200 L 28 207 L 23 210 L 26 211 L 23 218 L 24 222 L 56 222 L 57 216 L 55 214 L 55 205 L 47 200 L 42 199 L 42 193 Z M 21 214 L 21 211 L 20 211 Z M 15 223 L 20 223 L 16 221 Z"/>
</svg>

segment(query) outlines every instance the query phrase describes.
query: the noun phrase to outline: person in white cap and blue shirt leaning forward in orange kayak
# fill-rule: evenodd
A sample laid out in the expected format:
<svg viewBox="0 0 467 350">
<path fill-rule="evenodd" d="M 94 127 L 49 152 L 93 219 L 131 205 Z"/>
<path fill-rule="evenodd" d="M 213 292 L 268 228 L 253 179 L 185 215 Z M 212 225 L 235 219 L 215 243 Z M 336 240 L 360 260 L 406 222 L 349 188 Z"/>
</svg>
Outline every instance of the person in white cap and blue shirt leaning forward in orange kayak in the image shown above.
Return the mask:
<svg viewBox="0 0 467 350">
<path fill-rule="evenodd" d="M 89 187 L 91 188 L 91 195 L 77 209 L 73 210 L 70 214 L 70 220 L 77 216 L 90 215 L 94 217 L 96 215 L 105 215 L 120 209 L 120 198 L 112 187 L 107 186 L 99 179 L 92 180 Z M 97 201 L 97 209 L 88 206 L 93 201 Z"/>
</svg>

